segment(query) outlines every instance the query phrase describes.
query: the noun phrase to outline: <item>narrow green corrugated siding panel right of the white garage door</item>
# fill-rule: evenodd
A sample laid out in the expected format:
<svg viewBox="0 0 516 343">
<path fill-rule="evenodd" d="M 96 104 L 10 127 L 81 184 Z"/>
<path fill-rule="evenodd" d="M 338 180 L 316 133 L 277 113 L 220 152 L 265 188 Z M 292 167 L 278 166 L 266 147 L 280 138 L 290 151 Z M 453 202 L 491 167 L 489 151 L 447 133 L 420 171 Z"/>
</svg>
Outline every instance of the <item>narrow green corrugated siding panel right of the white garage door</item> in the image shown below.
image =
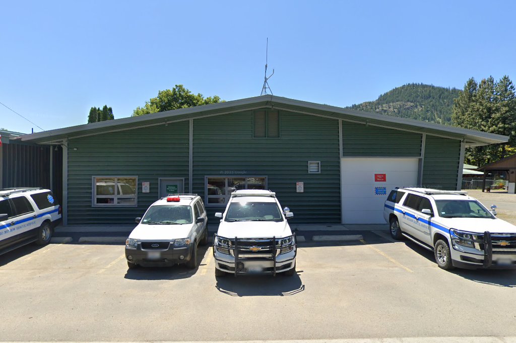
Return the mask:
<svg viewBox="0 0 516 343">
<path fill-rule="evenodd" d="M 426 136 L 423 185 L 455 191 L 460 164 L 460 141 Z"/>
</svg>

